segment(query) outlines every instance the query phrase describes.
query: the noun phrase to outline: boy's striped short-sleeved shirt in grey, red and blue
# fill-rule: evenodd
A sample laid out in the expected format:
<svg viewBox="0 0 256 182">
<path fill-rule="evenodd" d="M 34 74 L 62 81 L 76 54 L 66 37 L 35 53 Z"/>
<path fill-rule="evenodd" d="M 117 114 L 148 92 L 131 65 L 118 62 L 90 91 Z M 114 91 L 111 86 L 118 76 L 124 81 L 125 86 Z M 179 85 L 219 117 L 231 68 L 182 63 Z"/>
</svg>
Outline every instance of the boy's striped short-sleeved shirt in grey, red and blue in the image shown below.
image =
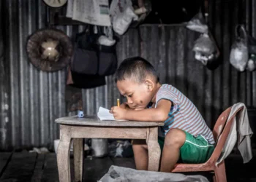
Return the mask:
<svg viewBox="0 0 256 182">
<path fill-rule="evenodd" d="M 157 92 L 156 105 L 161 99 L 167 99 L 172 102 L 168 119 L 165 120 L 165 125 L 161 127 L 160 135 L 166 135 L 172 128 L 178 128 L 189 132 L 197 137 L 203 135 L 210 144 L 214 144 L 214 136 L 207 126 L 206 122 L 197 110 L 196 106 L 189 98 L 183 95 L 176 87 L 170 84 L 162 84 Z"/>
</svg>

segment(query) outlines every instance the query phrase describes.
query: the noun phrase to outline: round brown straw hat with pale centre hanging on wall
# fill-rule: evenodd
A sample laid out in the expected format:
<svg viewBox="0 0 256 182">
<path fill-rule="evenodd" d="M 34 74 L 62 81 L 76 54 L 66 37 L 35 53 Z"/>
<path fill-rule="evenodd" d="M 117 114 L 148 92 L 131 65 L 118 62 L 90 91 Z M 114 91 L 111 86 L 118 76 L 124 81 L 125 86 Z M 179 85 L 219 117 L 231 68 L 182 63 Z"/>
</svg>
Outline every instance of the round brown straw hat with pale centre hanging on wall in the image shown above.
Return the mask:
<svg viewBox="0 0 256 182">
<path fill-rule="evenodd" d="M 42 28 L 29 36 L 26 51 L 36 68 L 42 71 L 59 71 L 69 64 L 73 45 L 63 31 Z"/>
</svg>

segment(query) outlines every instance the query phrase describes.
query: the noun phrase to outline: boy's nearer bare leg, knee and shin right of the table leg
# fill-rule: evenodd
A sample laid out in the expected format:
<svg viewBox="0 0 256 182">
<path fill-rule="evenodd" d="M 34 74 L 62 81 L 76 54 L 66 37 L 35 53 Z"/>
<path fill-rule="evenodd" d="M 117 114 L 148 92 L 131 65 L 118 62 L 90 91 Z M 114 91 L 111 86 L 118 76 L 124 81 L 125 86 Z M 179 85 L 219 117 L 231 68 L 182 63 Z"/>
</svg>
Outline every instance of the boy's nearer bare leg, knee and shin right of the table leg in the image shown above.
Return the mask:
<svg viewBox="0 0 256 182">
<path fill-rule="evenodd" d="M 186 134 L 183 130 L 171 129 L 165 135 L 165 145 L 162 150 L 161 172 L 170 173 L 178 162 L 181 146 L 186 141 Z"/>
</svg>

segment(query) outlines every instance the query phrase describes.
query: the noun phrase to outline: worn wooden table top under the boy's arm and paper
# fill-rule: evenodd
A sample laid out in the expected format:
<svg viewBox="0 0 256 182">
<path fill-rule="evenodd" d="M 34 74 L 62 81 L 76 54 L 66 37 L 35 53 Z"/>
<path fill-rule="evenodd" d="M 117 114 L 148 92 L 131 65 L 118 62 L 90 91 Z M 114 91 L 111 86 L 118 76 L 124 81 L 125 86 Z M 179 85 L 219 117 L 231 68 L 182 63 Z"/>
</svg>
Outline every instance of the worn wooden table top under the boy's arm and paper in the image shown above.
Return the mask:
<svg viewBox="0 0 256 182">
<path fill-rule="evenodd" d="M 155 127 L 163 126 L 164 122 L 136 122 L 136 121 L 101 121 L 95 116 L 75 116 L 61 117 L 55 120 L 59 124 L 85 125 L 85 126 L 105 126 L 105 127 Z"/>
</svg>

